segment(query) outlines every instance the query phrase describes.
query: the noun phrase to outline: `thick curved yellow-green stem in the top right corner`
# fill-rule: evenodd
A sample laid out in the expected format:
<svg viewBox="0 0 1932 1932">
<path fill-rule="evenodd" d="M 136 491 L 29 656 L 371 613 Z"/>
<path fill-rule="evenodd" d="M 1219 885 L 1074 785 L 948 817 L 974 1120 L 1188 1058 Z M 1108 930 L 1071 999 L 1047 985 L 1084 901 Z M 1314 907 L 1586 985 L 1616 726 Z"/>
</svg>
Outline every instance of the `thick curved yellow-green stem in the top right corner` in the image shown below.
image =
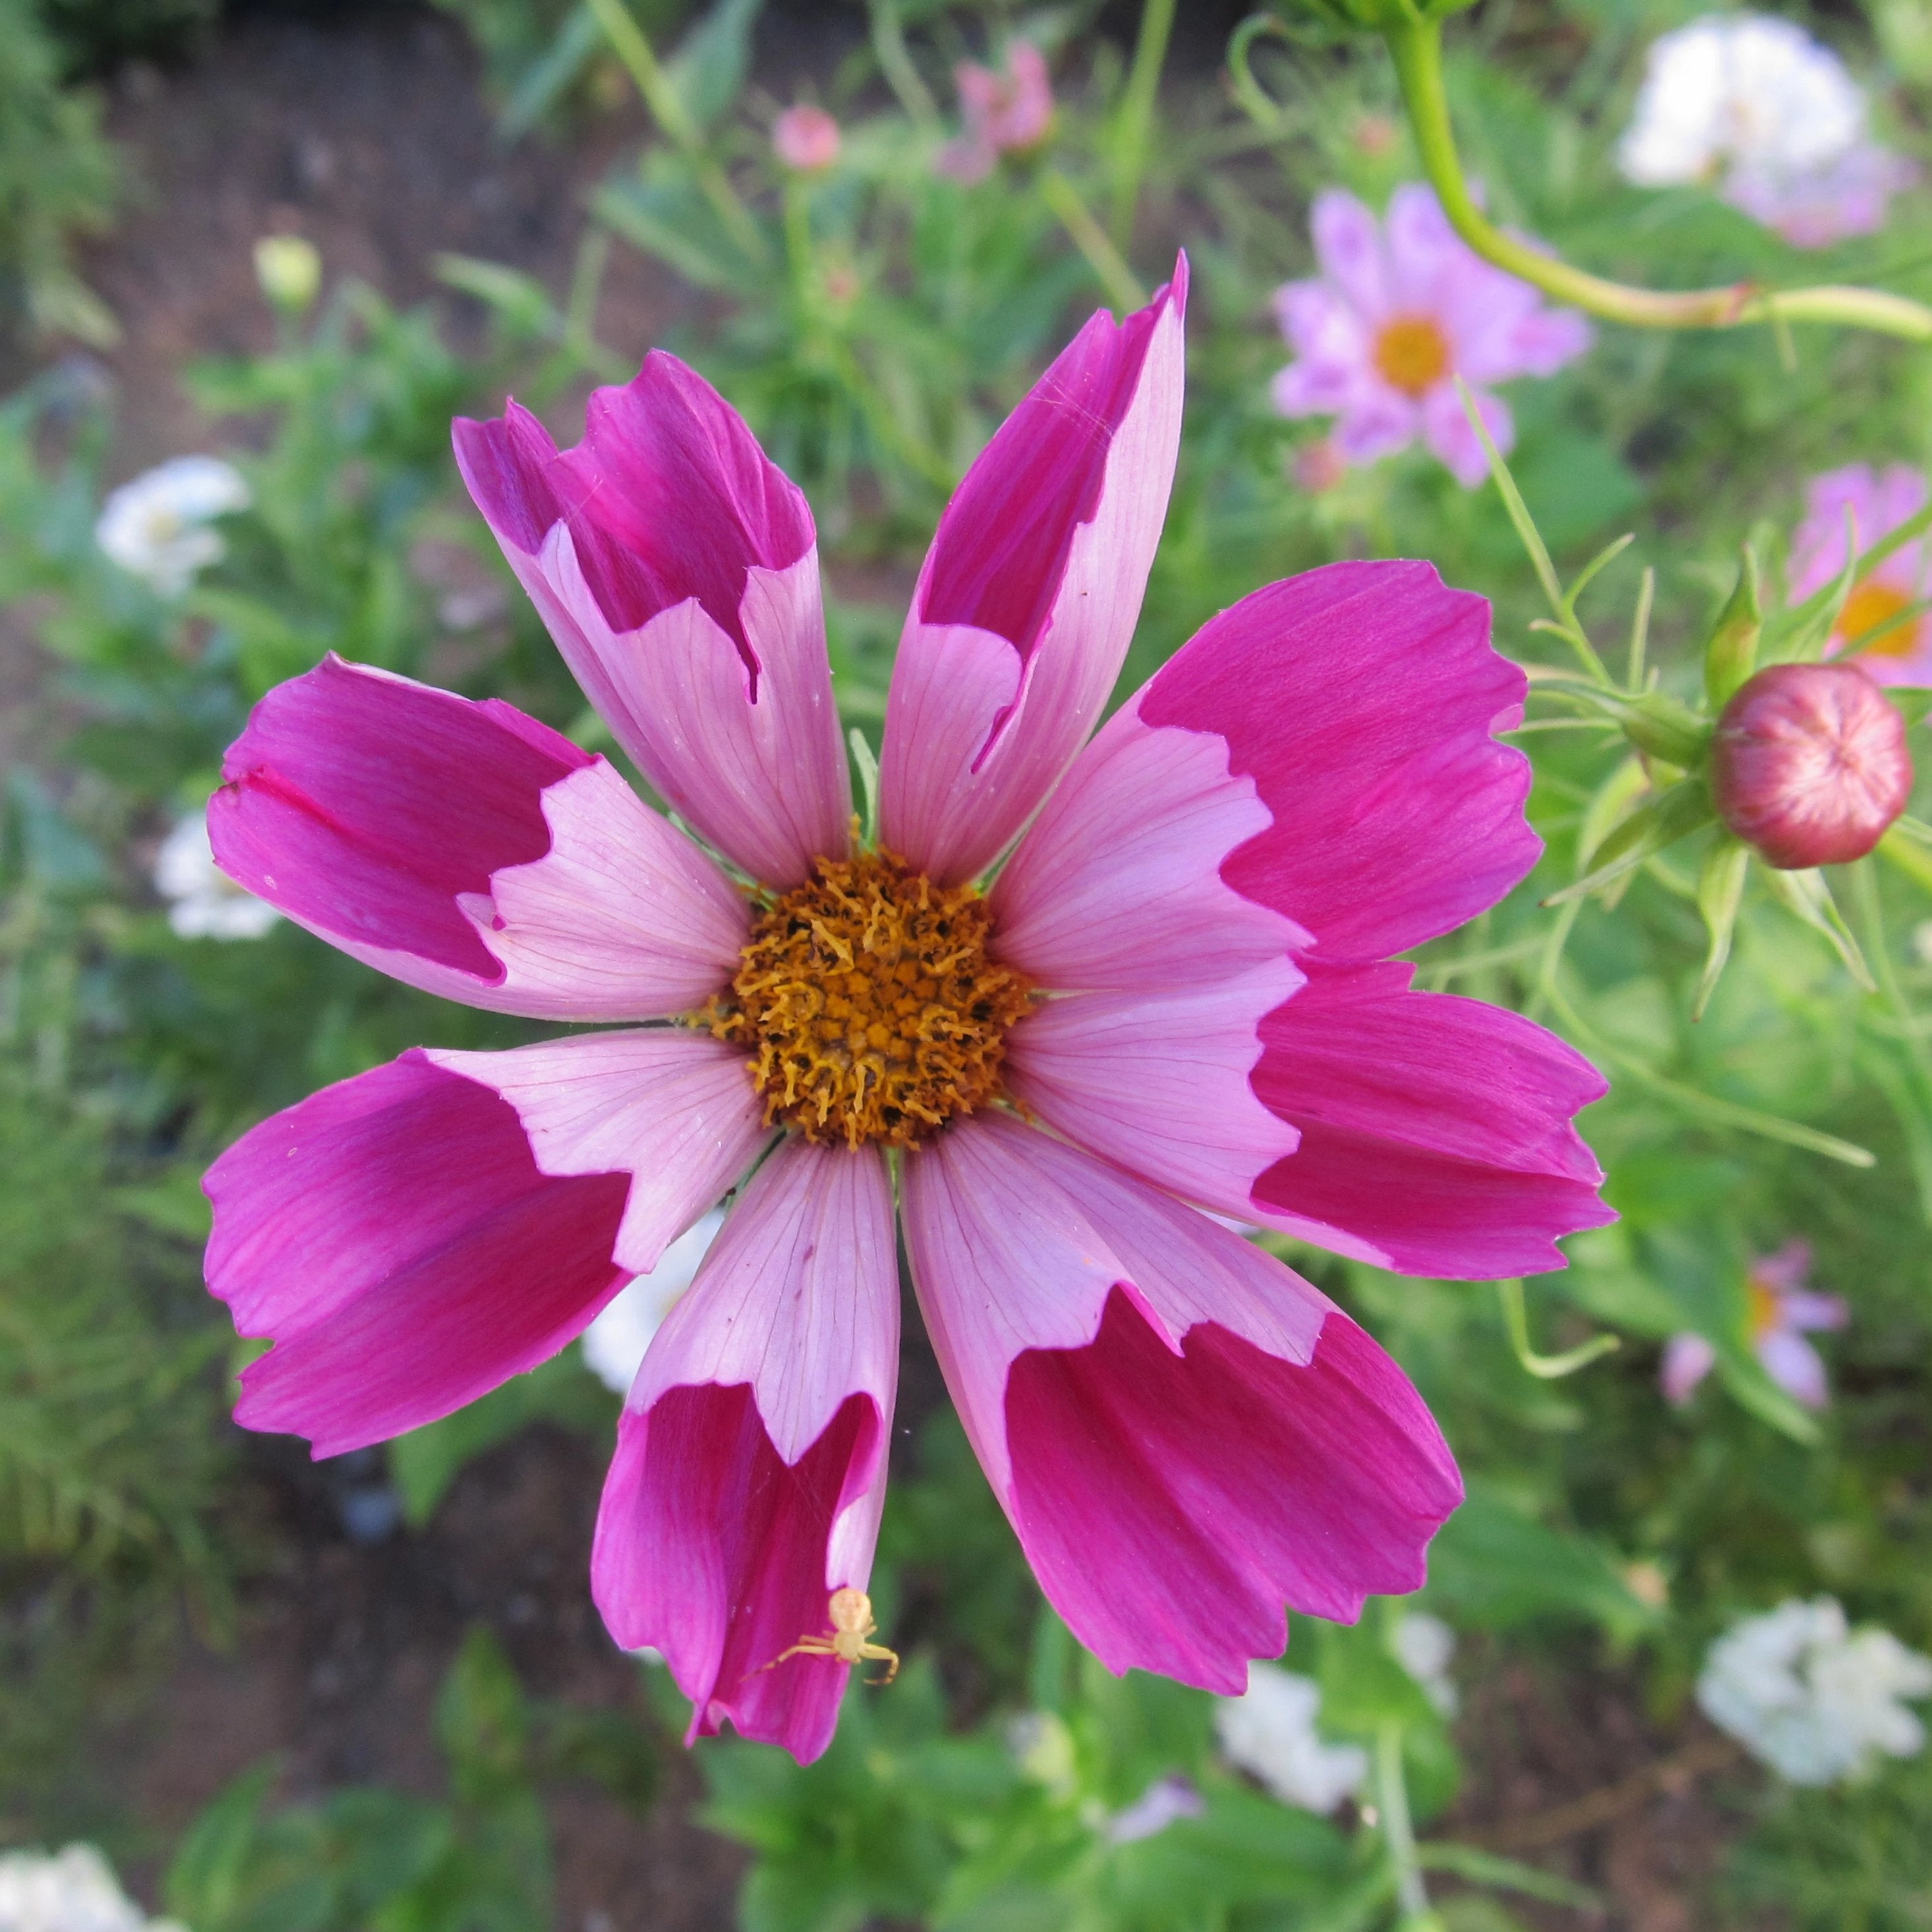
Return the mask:
<svg viewBox="0 0 1932 1932">
<path fill-rule="evenodd" d="M 1468 191 L 1463 162 L 1455 151 L 1455 129 L 1449 122 L 1449 93 L 1443 87 L 1441 21 L 1397 17 L 1381 29 L 1395 58 L 1395 77 L 1403 89 L 1403 104 L 1416 135 L 1422 172 L 1428 174 L 1443 214 L 1455 232 L 1484 261 L 1507 269 L 1548 296 L 1602 315 L 1611 323 L 1634 328 L 1737 328 L 1743 323 L 1843 323 L 1851 328 L 1874 328 L 1880 334 L 1903 336 L 1909 342 L 1932 342 L 1932 309 L 1907 296 L 1882 288 L 1849 288 L 1822 284 L 1818 288 L 1766 290 L 1750 282 L 1727 288 L 1692 288 L 1667 292 L 1631 288 L 1605 276 L 1573 269 L 1565 261 L 1542 255 L 1526 242 L 1503 234 Z"/>
</svg>

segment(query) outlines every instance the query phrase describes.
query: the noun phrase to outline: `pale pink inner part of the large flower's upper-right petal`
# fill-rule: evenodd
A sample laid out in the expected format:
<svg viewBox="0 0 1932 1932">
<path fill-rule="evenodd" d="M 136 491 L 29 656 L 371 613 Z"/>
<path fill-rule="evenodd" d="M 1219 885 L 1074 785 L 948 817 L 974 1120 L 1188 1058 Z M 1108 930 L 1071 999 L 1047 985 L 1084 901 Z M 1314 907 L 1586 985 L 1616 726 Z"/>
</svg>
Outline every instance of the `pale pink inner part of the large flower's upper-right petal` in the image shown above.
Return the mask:
<svg viewBox="0 0 1932 1932">
<path fill-rule="evenodd" d="M 1227 742 L 1117 711 L 1074 759 L 993 885 L 993 951 L 1034 985 L 1179 991 L 1310 937 L 1221 879 L 1273 823 Z"/>
</svg>

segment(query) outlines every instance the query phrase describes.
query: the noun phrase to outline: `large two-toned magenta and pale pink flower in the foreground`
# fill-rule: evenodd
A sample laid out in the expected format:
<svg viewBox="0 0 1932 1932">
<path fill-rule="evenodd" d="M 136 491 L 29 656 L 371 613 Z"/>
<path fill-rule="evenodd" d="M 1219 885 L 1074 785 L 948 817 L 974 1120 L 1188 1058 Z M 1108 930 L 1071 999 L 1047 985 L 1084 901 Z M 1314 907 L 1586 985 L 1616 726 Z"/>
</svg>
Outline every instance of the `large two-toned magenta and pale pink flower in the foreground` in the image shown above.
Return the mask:
<svg viewBox="0 0 1932 1932">
<path fill-rule="evenodd" d="M 678 825 L 506 703 L 336 659 L 228 755 L 214 850 L 290 918 L 477 1007 L 616 1022 L 415 1049 L 216 1161 L 209 1281 L 274 1339 L 238 1418 L 336 1455 L 448 1414 L 736 1190 L 630 1393 L 593 1555 L 694 1735 L 831 1737 L 846 1667 L 769 1665 L 869 1577 L 895 1175 L 1047 1596 L 1115 1671 L 1223 1692 L 1285 1604 L 1416 1588 L 1461 1480 L 1389 1356 L 1213 1213 L 1474 1277 L 1607 1219 L 1571 1126 L 1596 1072 L 1393 958 L 1538 852 L 1492 736 L 1524 678 L 1480 597 L 1418 562 L 1269 585 L 1088 742 L 1173 483 L 1184 299 L 1182 261 L 1095 315 L 947 506 L 875 850 L 806 500 L 661 354 L 572 450 L 516 404 L 456 448 Z"/>
</svg>

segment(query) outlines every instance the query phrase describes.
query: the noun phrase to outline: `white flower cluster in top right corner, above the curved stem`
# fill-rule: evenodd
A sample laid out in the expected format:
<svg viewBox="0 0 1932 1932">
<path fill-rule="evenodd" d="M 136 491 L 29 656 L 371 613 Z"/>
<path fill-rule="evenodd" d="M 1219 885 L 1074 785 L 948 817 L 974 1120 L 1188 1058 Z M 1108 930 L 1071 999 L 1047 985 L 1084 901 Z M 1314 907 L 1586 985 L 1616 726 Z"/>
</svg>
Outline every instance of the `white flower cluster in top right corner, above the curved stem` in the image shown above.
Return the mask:
<svg viewBox="0 0 1932 1932">
<path fill-rule="evenodd" d="M 1837 54 L 1766 14 L 1656 41 L 1617 162 L 1640 187 L 1706 182 L 1799 247 L 1870 234 L 1917 178 L 1866 137 L 1864 93 Z"/>
</svg>

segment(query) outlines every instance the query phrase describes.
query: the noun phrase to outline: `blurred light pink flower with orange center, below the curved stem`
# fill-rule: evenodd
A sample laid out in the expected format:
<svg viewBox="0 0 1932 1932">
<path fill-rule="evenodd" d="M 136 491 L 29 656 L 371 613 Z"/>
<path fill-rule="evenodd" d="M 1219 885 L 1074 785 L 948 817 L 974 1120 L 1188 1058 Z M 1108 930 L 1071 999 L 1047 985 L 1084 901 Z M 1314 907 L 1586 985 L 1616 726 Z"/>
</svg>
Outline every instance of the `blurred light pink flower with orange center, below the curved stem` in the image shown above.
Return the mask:
<svg viewBox="0 0 1932 1932">
<path fill-rule="evenodd" d="M 1546 309 L 1528 282 L 1468 249 L 1416 182 L 1389 197 L 1385 224 L 1354 195 L 1323 187 L 1310 226 L 1321 272 L 1275 294 L 1294 350 L 1275 377 L 1275 408 L 1337 417 L 1335 448 L 1352 464 L 1422 437 L 1474 487 L 1488 464 L 1455 379 L 1474 390 L 1484 427 L 1507 452 L 1517 429 L 1488 384 L 1553 375 L 1590 346 L 1590 325 L 1571 309 Z"/>
</svg>

